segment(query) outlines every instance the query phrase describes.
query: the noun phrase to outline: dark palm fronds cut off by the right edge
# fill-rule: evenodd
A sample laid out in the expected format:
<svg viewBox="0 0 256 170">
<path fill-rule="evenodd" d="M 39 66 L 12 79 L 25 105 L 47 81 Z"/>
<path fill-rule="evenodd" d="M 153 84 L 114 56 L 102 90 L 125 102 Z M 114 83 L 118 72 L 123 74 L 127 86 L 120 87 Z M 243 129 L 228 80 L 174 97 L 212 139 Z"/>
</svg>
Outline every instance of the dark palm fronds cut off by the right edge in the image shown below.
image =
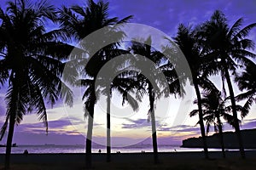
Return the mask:
<svg viewBox="0 0 256 170">
<path fill-rule="evenodd" d="M 236 77 L 236 82 L 238 83 L 239 89 L 246 90 L 245 93 L 239 94 L 236 96 L 237 101 L 241 101 L 242 99 L 247 99 L 246 103 L 243 105 L 243 108 L 250 109 L 251 105 L 256 103 L 256 65 L 252 63 L 248 63 L 246 70 L 242 71 L 240 76 Z M 244 117 L 247 115 L 241 115 Z"/>
</svg>

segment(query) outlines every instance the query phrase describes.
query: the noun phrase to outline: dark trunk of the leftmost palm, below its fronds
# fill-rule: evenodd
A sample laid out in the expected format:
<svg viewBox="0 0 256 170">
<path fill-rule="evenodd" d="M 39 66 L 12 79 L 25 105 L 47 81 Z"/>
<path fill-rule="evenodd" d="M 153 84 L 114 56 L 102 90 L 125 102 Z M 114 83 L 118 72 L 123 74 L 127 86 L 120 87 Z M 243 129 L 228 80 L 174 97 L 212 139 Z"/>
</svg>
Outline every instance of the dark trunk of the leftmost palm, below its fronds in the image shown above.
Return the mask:
<svg viewBox="0 0 256 170">
<path fill-rule="evenodd" d="M 9 132 L 8 132 L 6 153 L 5 153 L 5 169 L 9 169 L 10 154 L 12 149 L 14 132 L 15 132 L 15 115 L 11 114 L 9 118 Z"/>
</svg>

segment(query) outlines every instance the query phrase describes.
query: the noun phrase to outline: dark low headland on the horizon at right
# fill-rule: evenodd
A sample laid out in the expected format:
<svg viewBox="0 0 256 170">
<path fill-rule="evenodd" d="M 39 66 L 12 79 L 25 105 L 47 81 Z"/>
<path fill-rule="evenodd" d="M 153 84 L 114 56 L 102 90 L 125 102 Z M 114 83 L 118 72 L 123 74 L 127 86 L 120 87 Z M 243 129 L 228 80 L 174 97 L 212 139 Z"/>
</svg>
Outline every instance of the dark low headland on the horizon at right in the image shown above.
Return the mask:
<svg viewBox="0 0 256 170">
<path fill-rule="evenodd" d="M 238 149 L 236 133 L 224 132 L 224 147 L 226 149 Z M 256 149 L 256 128 L 241 130 L 241 137 L 245 149 Z M 219 134 L 214 133 L 212 136 L 207 136 L 207 146 L 209 148 L 221 148 L 219 142 Z M 189 138 L 184 139 L 181 147 L 184 148 L 202 148 L 202 138 Z"/>
</svg>

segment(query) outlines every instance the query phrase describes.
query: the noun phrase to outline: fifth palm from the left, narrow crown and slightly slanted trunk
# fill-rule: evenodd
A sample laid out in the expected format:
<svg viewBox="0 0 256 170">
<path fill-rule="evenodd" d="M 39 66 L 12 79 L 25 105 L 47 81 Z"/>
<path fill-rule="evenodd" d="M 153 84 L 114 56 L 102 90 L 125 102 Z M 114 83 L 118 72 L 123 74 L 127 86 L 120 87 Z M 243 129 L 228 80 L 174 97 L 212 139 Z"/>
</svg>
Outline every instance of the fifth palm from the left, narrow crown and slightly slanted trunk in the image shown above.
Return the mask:
<svg viewBox="0 0 256 170">
<path fill-rule="evenodd" d="M 201 77 L 201 65 L 203 64 L 203 55 L 201 46 L 199 44 L 199 40 L 196 37 L 196 31 L 193 31 L 191 28 L 188 28 L 181 24 L 178 27 L 177 37 L 174 38 L 178 47 L 182 50 L 185 58 L 189 63 L 189 67 L 191 70 L 192 81 L 195 88 L 195 94 L 197 97 L 197 105 L 198 105 L 198 116 L 199 116 L 199 124 L 201 127 L 201 137 L 203 141 L 203 147 L 205 151 L 205 157 L 208 159 L 208 148 L 207 148 L 207 140 L 205 127 L 203 122 L 203 112 L 202 112 L 202 101 L 201 101 L 201 92 L 200 85 L 203 85 L 201 82 L 204 77 Z"/>
</svg>

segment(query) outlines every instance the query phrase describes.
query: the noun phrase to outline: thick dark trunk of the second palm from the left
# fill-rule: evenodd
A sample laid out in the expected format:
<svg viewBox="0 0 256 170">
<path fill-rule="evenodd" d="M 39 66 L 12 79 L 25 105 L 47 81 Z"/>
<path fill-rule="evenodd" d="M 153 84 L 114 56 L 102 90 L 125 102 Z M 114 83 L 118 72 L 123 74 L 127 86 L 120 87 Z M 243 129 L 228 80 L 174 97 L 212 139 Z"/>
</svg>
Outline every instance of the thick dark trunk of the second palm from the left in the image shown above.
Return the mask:
<svg viewBox="0 0 256 170">
<path fill-rule="evenodd" d="M 90 116 L 88 117 L 88 129 L 86 135 L 86 160 L 85 167 L 91 168 L 91 140 L 92 140 L 92 129 L 93 129 L 93 116 L 94 116 L 94 105 L 90 108 Z"/>
</svg>

